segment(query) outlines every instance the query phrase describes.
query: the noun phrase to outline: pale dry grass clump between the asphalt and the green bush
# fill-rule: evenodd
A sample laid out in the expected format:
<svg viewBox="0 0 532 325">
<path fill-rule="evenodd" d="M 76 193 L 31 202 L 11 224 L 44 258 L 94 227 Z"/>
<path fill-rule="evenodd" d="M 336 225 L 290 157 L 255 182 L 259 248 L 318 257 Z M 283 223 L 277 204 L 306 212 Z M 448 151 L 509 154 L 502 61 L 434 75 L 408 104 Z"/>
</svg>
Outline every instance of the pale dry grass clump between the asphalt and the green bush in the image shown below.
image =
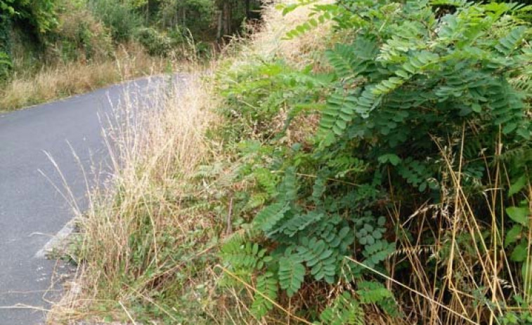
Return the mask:
<svg viewBox="0 0 532 325">
<path fill-rule="evenodd" d="M 208 84 L 194 74 L 186 78 L 171 95 L 150 95 L 162 102 L 162 110 L 140 112 L 131 98 L 108 118 L 112 179 L 91 194 L 88 211 L 79 211 L 82 264 L 70 284 L 75 290 L 54 307 L 51 322 L 103 314 L 126 321 L 139 302 L 174 321 L 174 310 L 159 305 L 156 301 L 164 301 L 159 296 L 193 294 L 188 288 L 196 280 L 176 281 L 176 274 L 208 253 L 198 247 L 216 229 L 214 218 L 185 208 L 191 194 L 201 195 L 187 184 L 207 154 L 203 136 L 213 101 Z"/>
</svg>

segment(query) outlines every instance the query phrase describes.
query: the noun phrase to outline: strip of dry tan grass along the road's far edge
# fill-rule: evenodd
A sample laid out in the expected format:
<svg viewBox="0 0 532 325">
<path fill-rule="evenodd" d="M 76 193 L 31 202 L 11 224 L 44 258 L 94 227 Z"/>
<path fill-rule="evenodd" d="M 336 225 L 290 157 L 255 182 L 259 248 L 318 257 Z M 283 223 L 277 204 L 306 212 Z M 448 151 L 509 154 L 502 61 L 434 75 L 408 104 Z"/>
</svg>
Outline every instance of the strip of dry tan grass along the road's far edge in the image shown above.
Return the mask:
<svg viewBox="0 0 532 325">
<path fill-rule="evenodd" d="M 36 74 L 13 76 L 0 89 L 0 111 L 49 102 L 92 91 L 119 81 L 163 72 L 168 60 L 153 58 L 139 46 L 117 51 L 114 60 L 67 62 L 45 67 Z"/>
</svg>

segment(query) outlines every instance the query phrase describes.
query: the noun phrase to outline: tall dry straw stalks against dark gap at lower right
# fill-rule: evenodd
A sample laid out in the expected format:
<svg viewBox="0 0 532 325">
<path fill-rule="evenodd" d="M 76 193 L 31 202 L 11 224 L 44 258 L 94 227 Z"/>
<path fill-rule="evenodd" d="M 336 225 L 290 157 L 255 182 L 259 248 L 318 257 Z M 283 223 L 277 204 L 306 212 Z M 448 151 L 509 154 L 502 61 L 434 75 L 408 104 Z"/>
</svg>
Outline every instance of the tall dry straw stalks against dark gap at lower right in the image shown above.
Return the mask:
<svg viewBox="0 0 532 325">
<path fill-rule="evenodd" d="M 375 273 L 393 288 L 411 323 L 512 324 L 511 321 L 502 323 L 501 319 L 508 312 L 527 311 L 526 307 L 515 307 L 514 298 L 521 293 L 524 293 L 524 305 L 531 312 L 532 300 L 526 290 L 528 280 L 512 272 L 515 263 L 504 244 L 507 168 L 500 161 L 493 166 L 491 184 L 483 192 L 484 202 L 472 199 L 471 193 L 462 187 L 462 169 L 466 163 L 461 151 L 465 141 L 461 139 L 460 152 L 450 152 L 450 146 L 438 143 L 446 164 L 440 204 L 420 206 L 403 222 L 399 221 L 404 220 L 400 219 L 399 204 L 389 211 L 391 220 L 396 220 L 397 249 L 389 259 L 391 275 Z M 502 148 L 500 143 L 495 145 Z M 495 152 L 502 154 L 500 149 Z M 484 159 L 487 166 L 488 159 Z M 532 197 L 530 185 L 526 192 Z M 486 215 L 475 212 L 482 208 L 488 220 Z M 419 236 L 409 238 L 407 234 Z M 421 234 L 432 234 L 434 244 L 422 244 L 427 238 L 420 238 Z M 525 239 L 530 246 L 532 234 L 529 232 Z M 531 257 L 529 250 L 526 263 Z M 410 276 L 404 274 L 405 263 Z"/>
</svg>

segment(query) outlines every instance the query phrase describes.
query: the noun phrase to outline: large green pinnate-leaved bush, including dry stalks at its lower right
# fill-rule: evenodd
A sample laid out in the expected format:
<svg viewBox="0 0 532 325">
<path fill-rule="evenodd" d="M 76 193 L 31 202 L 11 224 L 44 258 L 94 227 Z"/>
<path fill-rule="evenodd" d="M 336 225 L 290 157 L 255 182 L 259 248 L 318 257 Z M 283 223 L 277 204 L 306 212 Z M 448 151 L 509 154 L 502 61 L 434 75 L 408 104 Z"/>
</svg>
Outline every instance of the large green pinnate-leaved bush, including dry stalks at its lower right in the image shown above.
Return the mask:
<svg viewBox="0 0 532 325">
<path fill-rule="evenodd" d="M 254 188 L 233 194 L 245 234 L 221 258 L 237 288 L 256 284 L 257 317 L 275 302 L 323 324 L 361 324 L 365 305 L 394 324 L 427 321 L 423 304 L 405 298 L 411 291 L 383 286 L 393 278 L 441 292 L 441 305 L 475 306 L 442 319 L 517 324 L 506 306 L 532 301 L 532 29 L 519 18 L 529 11 L 446 0 L 316 5 L 286 37 L 332 22 L 339 41 L 321 53 L 327 67 L 279 60 L 221 76 L 228 125 L 218 134 L 240 157 L 238 181 Z M 427 267 L 397 258 L 410 251 Z M 419 272 L 430 280 L 410 277 Z M 493 277 L 513 279 L 513 293 Z"/>
</svg>

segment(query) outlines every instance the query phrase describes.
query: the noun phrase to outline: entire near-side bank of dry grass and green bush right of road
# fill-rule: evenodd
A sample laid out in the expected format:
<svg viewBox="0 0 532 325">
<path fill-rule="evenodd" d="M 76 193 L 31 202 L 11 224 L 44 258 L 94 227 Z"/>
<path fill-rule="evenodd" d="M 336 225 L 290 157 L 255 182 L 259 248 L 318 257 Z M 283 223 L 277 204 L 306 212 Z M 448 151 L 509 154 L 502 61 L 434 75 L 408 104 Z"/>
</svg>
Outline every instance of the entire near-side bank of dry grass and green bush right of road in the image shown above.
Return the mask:
<svg viewBox="0 0 532 325">
<path fill-rule="evenodd" d="M 118 137 L 59 319 L 532 324 L 532 8 L 279 10 Z"/>
</svg>

